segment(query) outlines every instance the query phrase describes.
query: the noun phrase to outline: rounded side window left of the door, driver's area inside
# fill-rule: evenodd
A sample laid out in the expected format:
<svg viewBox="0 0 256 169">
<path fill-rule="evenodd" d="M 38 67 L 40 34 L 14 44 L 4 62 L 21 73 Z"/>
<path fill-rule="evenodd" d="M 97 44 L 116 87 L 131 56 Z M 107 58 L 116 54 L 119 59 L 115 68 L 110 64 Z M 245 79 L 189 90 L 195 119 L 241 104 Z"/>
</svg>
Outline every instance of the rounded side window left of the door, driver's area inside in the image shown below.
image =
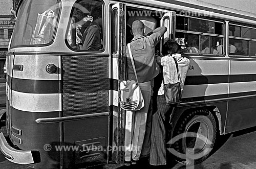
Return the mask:
<svg viewBox="0 0 256 169">
<path fill-rule="evenodd" d="M 78 1 L 70 16 L 68 44 L 74 50 L 101 51 L 103 4 L 97 1 Z"/>
</svg>

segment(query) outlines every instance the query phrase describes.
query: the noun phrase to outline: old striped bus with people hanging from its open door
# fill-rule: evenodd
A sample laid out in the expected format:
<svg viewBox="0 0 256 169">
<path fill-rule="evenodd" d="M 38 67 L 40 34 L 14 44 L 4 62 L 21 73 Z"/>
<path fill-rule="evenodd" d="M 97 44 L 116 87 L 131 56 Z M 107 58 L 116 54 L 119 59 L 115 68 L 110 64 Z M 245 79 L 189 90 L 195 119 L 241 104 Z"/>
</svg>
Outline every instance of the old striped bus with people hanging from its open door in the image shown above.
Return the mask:
<svg viewBox="0 0 256 169">
<path fill-rule="evenodd" d="M 167 28 L 156 51 L 175 39 L 190 60 L 167 152 L 199 163 L 219 134 L 255 126 L 253 13 L 203 2 L 21 0 L 16 15 L 7 54 L 8 136 L 0 133 L 0 150 L 11 162 L 33 168 L 123 162 L 120 82 L 137 19 L 145 31 Z M 86 49 L 92 24 L 98 46 Z"/>
</svg>

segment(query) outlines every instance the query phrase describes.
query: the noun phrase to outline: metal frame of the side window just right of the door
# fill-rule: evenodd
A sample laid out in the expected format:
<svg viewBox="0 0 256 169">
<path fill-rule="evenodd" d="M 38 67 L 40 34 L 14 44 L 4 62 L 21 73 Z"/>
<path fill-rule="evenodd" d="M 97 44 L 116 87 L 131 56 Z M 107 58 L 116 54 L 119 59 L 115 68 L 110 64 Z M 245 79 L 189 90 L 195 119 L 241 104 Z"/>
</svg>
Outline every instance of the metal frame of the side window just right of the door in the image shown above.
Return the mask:
<svg viewBox="0 0 256 169">
<path fill-rule="evenodd" d="M 200 17 L 193 17 L 193 16 L 184 16 L 181 14 L 177 14 L 176 17 L 178 16 L 182 16 L 184 18 L 188 18 L 188 25 L 189 25 L 189 18 L 193 18 L 193 19 L 198 19 L 198 20 L 206 20 L 206 21 L 211 21 L 211 22 L 218 22 L 218 23 L 222 23 L 223 24 L 223 35 L 220 34 L 212 34 L 212 33 L 203 33 L 203 32 L 195 32 L 195 31 L 189 31 L 189 27 L 188 27 L 188 31 L 186 30 L 179 30 L 179 29 L 175 29 L 175 32 L 179 32 L 179 33 L 186 33 L 186 34 L 194 34 L 194 35 L 204 35 L 204 36 L 211 36 L 211 37 L 219 37 L 222 38 L 223 44 L 222 44 L 222 54 L 221 55 L 215 55 L 215 54 L 203 54 L 203 53 L 184 53 L 186 55 L 189 56 L 210 56 L 210 57 L 225 57 L 226 51 L 225 51 L 225 21 L 219 21 L 219 20 L 215 20 L 215 19 L 205 19 L 205 18 L 200 18 Z M 175 36 L 176 38 L 176 36 Z M 200 38 L 200 37 L 199 37 Z M 200 43 L 199 43 L 200 45 Z"/>
</svg>

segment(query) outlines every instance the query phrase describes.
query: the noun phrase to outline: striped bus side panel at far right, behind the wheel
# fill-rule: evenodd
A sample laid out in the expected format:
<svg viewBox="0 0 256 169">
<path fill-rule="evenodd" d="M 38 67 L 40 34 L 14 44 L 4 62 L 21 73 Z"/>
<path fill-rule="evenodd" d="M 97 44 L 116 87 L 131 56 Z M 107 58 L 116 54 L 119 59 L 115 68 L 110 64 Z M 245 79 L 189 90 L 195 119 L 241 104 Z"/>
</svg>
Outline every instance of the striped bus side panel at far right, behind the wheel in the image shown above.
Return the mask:
<svg viewBox="0 0 256 169">
<path fill-rule="evenodd" d="M 231 60 L 229 97 L 248 97 L 229 101 L 226 133 L 255 126 L 256 98 L 250 97 L 256 94 L 255 67 L 254 60 Z"/>
</svg>

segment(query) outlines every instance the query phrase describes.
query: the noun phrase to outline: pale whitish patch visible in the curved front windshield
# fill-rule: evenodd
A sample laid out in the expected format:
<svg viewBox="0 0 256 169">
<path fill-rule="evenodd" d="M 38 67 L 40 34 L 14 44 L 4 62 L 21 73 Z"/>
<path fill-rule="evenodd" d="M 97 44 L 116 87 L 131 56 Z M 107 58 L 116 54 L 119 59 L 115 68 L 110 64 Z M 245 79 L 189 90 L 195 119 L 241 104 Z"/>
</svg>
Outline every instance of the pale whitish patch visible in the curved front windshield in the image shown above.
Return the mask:
<svg viewBox="0 0 256 169">
<path fill-rule="evenodd" d="M 50 9 L 42 14 L 37 14 L 31 44 L 46 44 L 51 41 L 56 25 L 56 18 L 56 14 Z"/>
</svg>

